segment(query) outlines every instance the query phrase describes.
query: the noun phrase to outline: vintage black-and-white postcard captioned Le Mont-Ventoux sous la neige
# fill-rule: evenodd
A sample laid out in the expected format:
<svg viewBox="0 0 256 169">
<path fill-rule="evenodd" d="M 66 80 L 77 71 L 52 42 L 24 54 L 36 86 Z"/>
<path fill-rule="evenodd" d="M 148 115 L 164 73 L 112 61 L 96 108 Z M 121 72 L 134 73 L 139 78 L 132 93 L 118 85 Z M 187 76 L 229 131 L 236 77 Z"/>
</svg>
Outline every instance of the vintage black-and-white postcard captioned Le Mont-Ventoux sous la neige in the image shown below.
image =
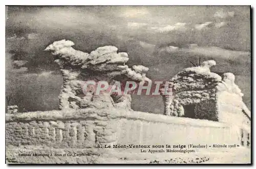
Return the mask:
<svg viewBox="0 0 256 169">
<path fill-rule="evenodd" d="M 251 164 L 250 6 L 6 6 L 6 163 Z"/>
</svg>

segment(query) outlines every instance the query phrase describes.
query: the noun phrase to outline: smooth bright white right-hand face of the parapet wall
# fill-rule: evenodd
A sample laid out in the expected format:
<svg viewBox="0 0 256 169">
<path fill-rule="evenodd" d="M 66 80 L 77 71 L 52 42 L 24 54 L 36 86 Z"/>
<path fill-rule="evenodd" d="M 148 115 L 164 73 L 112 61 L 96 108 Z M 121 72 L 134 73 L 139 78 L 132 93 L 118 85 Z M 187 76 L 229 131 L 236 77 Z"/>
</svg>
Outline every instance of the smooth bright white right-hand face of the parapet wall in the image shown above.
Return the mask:
<svg viewBox="0 0 256 169">
<path fill-rule="evenodd" d="M 117 144 L 210 145 L 214 143 L 240 143 L 239 133 L 233 132 L 233 129 L 230 127 L 202 127 L 201 125 L 180 125 L 175 123 L 163 124 L 132 119 L 121 119 L 119 121 L 119 126 L 117 132 Z M 119 149 L 117 151 L 126 150 Z M 204 150 L 201 149 L 197 151 Z"/>
</svg>

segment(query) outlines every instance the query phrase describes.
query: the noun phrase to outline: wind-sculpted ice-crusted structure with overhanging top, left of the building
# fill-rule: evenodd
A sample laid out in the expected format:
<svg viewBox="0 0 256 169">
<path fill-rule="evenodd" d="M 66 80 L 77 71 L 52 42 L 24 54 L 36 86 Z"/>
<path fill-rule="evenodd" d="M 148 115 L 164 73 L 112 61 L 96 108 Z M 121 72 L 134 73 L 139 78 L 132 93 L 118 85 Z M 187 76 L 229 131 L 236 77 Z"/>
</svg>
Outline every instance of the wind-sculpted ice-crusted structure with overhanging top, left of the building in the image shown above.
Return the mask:
<svg viewBox="0 0 256 169">
<path fill-rule="evenodd" d="M 60 109 L 87 108 L 87 107 L 112 107 L 126 104 L 130 108 L 131 97 L 106 93 L 101 96 L 84 95 L 83 85 L 86 81 L 106 81 L 113 85 L 115 81 L 151 81 L 146 77 L 147 67 L 142 65 L 129 68 L 125 63 L 129 60 L 127 53 L 117 53 L 115 46 L 98 47 L 95 51 L 84 53 L 73 49 L 74 42 L 70 40 L 55 41 L 46 47 L 56 56 L 55 62 L 60 66 L 63 75 L 63 87 L 60 93 Z"/>
</svg>

